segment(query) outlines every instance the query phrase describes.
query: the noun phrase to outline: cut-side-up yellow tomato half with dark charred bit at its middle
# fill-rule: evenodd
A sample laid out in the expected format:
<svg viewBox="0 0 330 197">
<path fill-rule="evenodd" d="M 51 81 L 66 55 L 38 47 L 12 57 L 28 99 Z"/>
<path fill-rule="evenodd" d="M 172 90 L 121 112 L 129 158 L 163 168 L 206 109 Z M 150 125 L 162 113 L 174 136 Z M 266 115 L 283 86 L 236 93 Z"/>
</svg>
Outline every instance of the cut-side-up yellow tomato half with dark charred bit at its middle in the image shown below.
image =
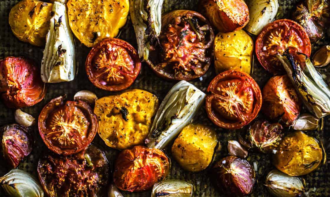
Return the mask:
<svg viewBox="0 0 330 197">
<path fill-rule="evenodd" d="M 158 98 L 145 90 L 134 89 L 97 99 L 94 113 L 98 118 L 98 133 L 111 148 L 141 145 L 157 109 Z"/>
</svg>

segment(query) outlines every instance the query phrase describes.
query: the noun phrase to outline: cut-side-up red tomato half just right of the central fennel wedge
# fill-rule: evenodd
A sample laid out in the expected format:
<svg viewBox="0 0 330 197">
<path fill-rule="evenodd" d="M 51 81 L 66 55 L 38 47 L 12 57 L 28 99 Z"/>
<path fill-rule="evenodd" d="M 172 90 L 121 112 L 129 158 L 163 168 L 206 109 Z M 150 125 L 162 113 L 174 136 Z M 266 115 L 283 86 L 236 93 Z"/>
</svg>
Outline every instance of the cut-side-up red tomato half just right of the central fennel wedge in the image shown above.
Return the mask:
<svg viewBox="0 0 330 197">
<path fill-rule="evenodd" d="M 219 127 L 242 128 L 260 111 L 260 88 L 245 72 L 224 71 L 211 81 L 207 91 L 206 111 L 209 119 Z"/>
</svg>

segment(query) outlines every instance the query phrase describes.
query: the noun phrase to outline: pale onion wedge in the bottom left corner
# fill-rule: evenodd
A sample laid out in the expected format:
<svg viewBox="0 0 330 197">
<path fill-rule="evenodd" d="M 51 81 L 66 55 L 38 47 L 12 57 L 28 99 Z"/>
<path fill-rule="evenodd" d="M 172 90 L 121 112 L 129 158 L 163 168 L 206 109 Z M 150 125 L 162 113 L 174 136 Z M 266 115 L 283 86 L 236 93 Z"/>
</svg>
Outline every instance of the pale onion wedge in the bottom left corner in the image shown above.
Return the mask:
<svg viewBox="0 0 330 197">
<path fill-rule="evenodd" d="M 13 169 L 0 178 L 2 188 L 11 197 L 44 197 L 44 191 L 29 173 Z"/>
</svg>

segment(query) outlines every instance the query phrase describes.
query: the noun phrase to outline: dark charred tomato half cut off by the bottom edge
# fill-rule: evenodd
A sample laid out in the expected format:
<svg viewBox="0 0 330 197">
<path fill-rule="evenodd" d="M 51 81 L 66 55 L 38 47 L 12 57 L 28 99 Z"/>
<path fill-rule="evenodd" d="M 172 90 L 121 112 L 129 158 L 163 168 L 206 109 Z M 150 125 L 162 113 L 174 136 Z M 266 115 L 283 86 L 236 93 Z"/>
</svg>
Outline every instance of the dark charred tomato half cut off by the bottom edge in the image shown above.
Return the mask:
<svg viewBox="0 0 330 197">
<path fill-rule="evenodd" d="M 94 145 L 76 155 L 44 155 L 39 159 L 37 171 L 49 197 L 106 196 L 109 163 Z"/>
</svg>

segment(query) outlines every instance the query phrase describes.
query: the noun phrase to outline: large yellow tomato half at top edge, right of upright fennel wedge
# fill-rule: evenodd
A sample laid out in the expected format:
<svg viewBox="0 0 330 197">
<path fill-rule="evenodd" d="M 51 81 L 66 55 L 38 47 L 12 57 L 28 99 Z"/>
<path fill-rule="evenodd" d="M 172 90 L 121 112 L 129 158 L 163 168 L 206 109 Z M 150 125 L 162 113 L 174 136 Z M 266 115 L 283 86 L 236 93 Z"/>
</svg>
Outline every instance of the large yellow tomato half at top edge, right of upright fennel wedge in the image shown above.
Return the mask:
<svg viewBox="0 0 330 197">
<path fill-rule="evenodd" d="M 129 12 L 128 0 L 69 0 L 67 6 L 72 32 L 88 47 L 116 37 Z"/>
</svg>

